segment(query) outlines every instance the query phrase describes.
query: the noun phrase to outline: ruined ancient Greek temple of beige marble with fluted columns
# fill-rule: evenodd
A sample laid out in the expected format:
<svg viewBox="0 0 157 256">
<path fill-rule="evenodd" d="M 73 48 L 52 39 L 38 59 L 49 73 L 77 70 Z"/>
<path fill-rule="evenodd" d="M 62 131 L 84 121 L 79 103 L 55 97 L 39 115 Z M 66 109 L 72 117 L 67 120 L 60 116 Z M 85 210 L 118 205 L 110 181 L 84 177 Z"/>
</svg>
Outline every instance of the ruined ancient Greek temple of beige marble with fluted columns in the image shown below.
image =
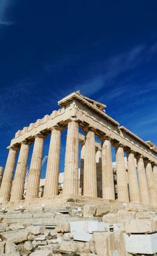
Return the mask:
<svg viewBox="0 0 157 256">
<path fill-rule="evenodd" d="M 117 200 L 157 205 L 156 146 L 150 141 L 144 142 L 130 130 L 120 126 L 116 120 L 106 114 L 104 104 L 86 98 L 79 91 L 66 96 L 58 104 L 59 110 L 19 130 L 11 140 L 0 188 L 1 202 L 24 200 L 23 190 L 31 144 L 33 144 L 33 153 L 25 201 L 32 201 L 39 197 L 43 145 L 45 138 L 51 136 L 43 194 L 45 199 L 53 200 L 54 197 L 61 196 L 96 199 L 100 197 L 99 182 L 102 187 L 102 200 L 114 201 L 115 187 L 111 154 L 111 147 L 114 147 Z M 62 195 L 58 195 L 61 134 L 65 129 L 67 129 L 67 138 L 63 191 Z M 80 130 L 84 134 L 82 140 L 80 140 Z M 96 147 L 95 136 L 100 142 L 100 147 Z M 80 147 L 81 153 L 78 154 Z M 19 158 L 15 166 L 18 150 Z M 127 175 L 124 154 L 127 156 Z M 101 168 L 97 171 L 98 158 L 101 159 Z M 80 162 L 83 163 L 83 168 L 82 181 L 79 184 Z M 98 178 L 98 172 L 101 179 Z M 82 186 L 82 195 L 79 195 L 79 186 Z"/>
</svg>

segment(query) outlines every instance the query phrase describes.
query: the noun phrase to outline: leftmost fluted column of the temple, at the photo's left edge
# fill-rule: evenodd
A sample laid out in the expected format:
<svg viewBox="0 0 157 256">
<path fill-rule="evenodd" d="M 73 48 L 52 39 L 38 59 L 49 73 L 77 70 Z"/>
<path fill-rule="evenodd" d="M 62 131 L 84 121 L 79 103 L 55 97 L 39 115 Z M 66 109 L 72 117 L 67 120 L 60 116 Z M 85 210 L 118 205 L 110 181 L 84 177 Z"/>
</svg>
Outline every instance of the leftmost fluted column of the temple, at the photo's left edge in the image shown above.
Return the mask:
<svg viewBox="0 0 157 256">
<path fill-rule="evenodd" d="M 16 155 L 17 149 L 9 148 L 5 172 L 3 174 L 3 180 L 1 182 L 0 201 L 9 201 L 10 199 L 11 184 L 13 180 L 13 171 L 15 168 Z"/>
</svg>

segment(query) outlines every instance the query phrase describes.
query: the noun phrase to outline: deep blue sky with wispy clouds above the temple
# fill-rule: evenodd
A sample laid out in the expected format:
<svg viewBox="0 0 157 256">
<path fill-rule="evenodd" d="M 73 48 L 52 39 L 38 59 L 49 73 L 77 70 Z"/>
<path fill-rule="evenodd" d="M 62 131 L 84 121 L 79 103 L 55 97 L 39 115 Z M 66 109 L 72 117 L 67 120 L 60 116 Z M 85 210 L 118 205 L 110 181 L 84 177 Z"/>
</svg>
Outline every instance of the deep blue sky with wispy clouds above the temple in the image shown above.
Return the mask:
<svg viewBox="0 0 157 256">
<path fill-rule="evenodd" d="M 75 90 L 157 144 L 156 9 L 155 0 L 0 0 L 2 166 L 15 132 Z"/>
</svg>

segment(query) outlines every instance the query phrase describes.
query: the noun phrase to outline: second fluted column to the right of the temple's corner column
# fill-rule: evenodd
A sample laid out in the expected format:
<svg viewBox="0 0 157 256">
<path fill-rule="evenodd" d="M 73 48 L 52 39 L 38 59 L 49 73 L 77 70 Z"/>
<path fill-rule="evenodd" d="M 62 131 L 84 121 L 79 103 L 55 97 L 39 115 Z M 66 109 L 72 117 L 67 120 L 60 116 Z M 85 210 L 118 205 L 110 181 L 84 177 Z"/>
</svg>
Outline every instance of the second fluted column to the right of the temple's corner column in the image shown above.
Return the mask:
<svg viewBox="0 0 157 256">
<path fill-rule="evenodd" d="M 110 139 L 102 142 L 102 198 L 114 200 L 114 178 Z"/>
</svg>

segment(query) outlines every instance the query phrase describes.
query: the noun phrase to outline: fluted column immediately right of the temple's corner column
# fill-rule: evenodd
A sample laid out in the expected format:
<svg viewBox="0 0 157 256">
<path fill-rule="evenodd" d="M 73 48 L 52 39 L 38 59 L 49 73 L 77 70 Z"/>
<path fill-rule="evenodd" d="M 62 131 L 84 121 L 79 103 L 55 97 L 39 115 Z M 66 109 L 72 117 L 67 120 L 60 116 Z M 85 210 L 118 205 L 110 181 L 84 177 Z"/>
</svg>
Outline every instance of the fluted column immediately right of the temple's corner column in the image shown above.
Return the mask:
<svg viewBox="0 0 157 256">
<path fill-rule="evenodd" d="M 96 151 L 94 132 L 88 130 L 85 138 L 84 154 L 84 196 L 97 197 L 96 184 Z"/>
</svg>

